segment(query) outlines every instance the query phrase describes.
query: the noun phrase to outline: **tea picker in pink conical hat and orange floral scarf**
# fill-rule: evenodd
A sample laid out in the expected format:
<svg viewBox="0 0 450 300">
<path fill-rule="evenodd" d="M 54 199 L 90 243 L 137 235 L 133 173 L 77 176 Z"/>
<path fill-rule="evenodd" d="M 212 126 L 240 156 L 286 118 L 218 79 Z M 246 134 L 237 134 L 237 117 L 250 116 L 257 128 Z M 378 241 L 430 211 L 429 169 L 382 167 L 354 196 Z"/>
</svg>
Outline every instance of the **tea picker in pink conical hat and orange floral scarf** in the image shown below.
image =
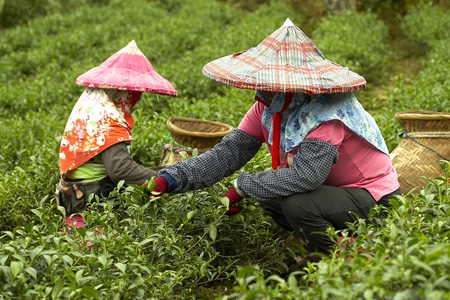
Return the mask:
<svg viewBox="0 0 450 300">
<path fill-rule="evenodd" d="M 81 221 L 91 195 L 107 197 L 121 180 L 144 184 L 157 175 L 128 152 L 134 125 L 131 112 L 143 92 L 177 96 L 132 41 L 100 66 L 79 76 L 86 86 L 70 114 L 59 153 L 61 180 L 56 199 L 68 221 Z M 79 225 L 79 224 L 78 224 Z"/>
</svg>

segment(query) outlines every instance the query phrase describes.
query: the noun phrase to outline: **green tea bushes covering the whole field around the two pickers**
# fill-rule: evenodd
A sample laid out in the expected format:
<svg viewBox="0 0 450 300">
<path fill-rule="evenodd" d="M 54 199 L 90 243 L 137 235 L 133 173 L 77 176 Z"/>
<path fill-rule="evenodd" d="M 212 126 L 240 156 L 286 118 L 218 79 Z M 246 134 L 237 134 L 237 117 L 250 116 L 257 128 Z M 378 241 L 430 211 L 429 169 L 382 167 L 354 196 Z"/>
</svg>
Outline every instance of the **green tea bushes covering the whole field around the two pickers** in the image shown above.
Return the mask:
<svg viewBox="0 0 450 300">
<path fill-rule="evenodd" d="M 50 2 L 58 1 L 41 1 Z M 49 7 L 55 13 L 35 19 L 27 15 L 26 24 L 2 31 L 0 298 L 448 296 L 448 163 L 445 176 L 431 180 L 418 196 L 393 200 L 387 219 L 360 220 L 340 232 L 357 234 L 355 242 L 301 273 L 290 273 L 295 258 L 305 253 L 299 240 L 274 224 L 253 199 L 240 203 L 240 214 L 223 214 L 222 196 L 237 174 L 207 189 L 153 201 L 148 188 L 122 187 L 108 199 L 92 200 L 84 214 L 86 230 L 62 233 L 64 212 L 53 193 L 61 135 L 83 91 L 74 84 L 77 76 L 136 40 L 180 94 L 145 93 L 133 112 L 133 158 L 155 166 L 168 142 L 169 118 L 236 127 L 254 103 L 254 91 L 205 78 L 204 64 L 256 46 L 286 17 L 299 27 L 305 22 L 285 2 L 255 1 L 249 11 L 224 2 L 229 1 L 86 0 L 78 3 L 103 5 L 77 6 L 70 13 L 68 6 L 64 11 Z M 447 18 L 447 11 L 425 5 L 402 19 L 405 35 L 427 43 L 429 52 L 419 76 L 405 82 L 399 75 L 388 104 L 373 112 L 391 150 L 401 131 L 396 112 L 450 107 L 449 38 L 438 29 Z M 430 34 L 414 24 L 427 24 Z M 345 12 L 322 19 L 311 38 L 330 60 L 370 77 L 384 76 L 379 65 L 389 63 L 386 34 L 374 14 Z M 264 148 L 243 170 L 267 168 L 270 157 Z"/>
</svg>

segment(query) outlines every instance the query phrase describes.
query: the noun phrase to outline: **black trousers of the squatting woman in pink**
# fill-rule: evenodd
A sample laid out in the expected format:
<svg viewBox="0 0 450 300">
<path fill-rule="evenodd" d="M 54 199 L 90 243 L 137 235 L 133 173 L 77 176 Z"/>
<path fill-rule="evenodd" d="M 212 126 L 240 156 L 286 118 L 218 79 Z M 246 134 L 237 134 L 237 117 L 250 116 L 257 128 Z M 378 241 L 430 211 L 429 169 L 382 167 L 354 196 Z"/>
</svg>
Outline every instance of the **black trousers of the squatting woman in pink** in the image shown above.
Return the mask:
<svg viewBox="0 0 450 300">
<path fill-rule="evenodd" d="M 309 252 L 329 253 L 334 242 L 326 234 L 329 226 L 345 229 L 357 217 L 367 219 L 375 205 L 389 207 L 389 199 L 401 195 L 400 189 L 380 201 L 362 188 L 342 188 L 322 185 L 314 191 L 284 197 L 278 200 L 260 201 L 261 207 L 272 213 L 273 219 L 283 228 L 294 231 Z M 353 213 L 352 213 L 353 212 Z"/>
</svg>

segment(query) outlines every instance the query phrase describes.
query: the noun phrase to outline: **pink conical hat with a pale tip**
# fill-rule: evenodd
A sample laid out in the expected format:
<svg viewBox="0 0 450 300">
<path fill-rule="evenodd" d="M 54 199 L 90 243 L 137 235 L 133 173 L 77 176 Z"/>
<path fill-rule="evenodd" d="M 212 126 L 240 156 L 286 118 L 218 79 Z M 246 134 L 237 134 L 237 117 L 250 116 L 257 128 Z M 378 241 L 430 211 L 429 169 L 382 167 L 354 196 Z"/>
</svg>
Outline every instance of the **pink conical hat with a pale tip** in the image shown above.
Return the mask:
<svg viewBox="0 0 450 300">
<path fill-rule="evenodd" d="M 78 76 L 75 83 L 93 88 L 178 96 L 172 84 L 156 73 L 135 41 L 131 41 L 100 66 Z"/>
</svg>

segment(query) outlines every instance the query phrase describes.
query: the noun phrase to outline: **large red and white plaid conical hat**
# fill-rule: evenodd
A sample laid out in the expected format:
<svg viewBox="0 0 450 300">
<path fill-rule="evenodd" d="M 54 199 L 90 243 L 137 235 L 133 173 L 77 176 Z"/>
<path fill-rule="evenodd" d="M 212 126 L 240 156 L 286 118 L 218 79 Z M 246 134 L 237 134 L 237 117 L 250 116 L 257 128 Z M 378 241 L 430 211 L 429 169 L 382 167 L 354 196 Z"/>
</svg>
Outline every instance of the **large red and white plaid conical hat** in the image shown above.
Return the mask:
<svg viewBox="0 0 450 300">
<path fill-rule="evenodd" d="M 251 90 L 325 94 L 362 90 L 366 80 L 327 60 L 289 18 L 258 46 L 207 63 L 203 75 Z"/>
</svg>

